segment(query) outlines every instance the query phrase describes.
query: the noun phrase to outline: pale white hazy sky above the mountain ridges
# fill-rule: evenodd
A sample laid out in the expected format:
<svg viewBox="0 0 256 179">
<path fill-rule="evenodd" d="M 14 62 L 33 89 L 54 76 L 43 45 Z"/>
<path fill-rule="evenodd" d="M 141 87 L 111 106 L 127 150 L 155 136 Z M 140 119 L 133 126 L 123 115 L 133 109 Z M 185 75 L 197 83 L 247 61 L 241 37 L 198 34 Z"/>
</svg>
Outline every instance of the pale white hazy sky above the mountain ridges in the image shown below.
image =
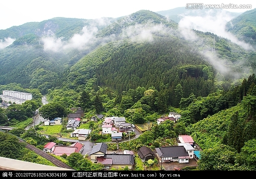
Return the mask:
<svg viewBox="0 0 256 179">
<path fill-rule="evenodd" d="M 28 22 L 41 22 L 54 17 L 96 19 L 100 17 L 122 17 L 139 10 L 152 12 L 186 7 L 187 3 L 204 5 L 222 3 L 228 5 L 252 5 L 252 0 L 1 0 L 0 29 L 20 26 Z M 251 9 L 225 9 L 230 12 L 245 12 Z"/>
</svg>

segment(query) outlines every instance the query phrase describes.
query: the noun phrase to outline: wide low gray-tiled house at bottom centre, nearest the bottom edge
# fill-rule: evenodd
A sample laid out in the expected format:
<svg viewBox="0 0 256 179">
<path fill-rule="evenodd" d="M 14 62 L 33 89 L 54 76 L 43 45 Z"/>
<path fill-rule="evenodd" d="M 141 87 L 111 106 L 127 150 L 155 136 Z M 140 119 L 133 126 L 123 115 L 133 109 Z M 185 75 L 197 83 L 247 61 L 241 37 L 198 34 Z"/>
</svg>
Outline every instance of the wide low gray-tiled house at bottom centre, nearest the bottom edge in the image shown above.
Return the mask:
<svg viewBox="0 0 256 179">
<path fill-rule="evenodd" d="M 105 154 L 97 157 L 97 163 L 104 165 L 104 169 L 125 168 L 132 169 L 134 166 L 134 155 L 127 154 Z"/>
</svg>

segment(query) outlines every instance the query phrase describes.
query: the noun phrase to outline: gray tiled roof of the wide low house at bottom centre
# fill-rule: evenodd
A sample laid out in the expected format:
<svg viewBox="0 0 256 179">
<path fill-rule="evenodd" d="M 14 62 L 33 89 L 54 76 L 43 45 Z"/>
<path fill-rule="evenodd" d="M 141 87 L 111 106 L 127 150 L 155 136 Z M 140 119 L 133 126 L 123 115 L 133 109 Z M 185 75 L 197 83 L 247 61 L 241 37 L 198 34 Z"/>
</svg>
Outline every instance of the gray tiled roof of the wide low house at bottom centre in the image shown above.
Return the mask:
<svg viewBox="0 0 256 179">
<path fill-rule="evenodd" d="M 134 165 L 134 156 L 127 154 L 106 154 L 104 158 L 111 158 L 113 165 Z"/>
</svg>

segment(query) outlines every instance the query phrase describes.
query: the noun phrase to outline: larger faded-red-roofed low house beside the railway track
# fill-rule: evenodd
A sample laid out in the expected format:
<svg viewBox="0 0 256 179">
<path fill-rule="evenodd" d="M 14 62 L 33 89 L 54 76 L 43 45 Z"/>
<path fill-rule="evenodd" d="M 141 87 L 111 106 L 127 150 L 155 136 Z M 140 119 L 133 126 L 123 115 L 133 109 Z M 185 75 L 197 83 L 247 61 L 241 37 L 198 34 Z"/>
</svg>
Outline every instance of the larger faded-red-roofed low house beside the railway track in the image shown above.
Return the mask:
<svg viewBox="0 0 256 179">
<path fill-rule="evenodd" d="M 81 153 L 83 150 L 84 144 L 80 142 L 75 142 L 70 146 L 56 145 L 55 149 L 51 153 L 56 156 L 62 156 L 64 153 L 67 154 L 67 156 L 70 156 L 71 153 Z"/>
</svg>

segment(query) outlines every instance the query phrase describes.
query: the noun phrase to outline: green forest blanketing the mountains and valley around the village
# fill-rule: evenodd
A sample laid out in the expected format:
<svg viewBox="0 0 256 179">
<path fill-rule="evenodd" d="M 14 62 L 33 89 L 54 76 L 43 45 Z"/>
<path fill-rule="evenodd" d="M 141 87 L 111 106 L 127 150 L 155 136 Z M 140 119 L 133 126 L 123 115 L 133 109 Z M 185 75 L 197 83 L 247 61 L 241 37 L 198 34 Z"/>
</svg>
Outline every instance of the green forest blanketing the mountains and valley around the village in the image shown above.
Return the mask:
<svg viewBox="0 0 256 179">
<path fill-rule="evenodd" d="M 254 12 L 233 19 L 236 25 L 230 29 L 240 38 L 245 35 L 252 46 Z M 109 25 L 97 26 L 96 40 L 89 47 L 61 52 L 45 51 L 44 43 L 39 43 L 41 35 L 32 30 L 49 21 L 20 26 L 19 30 L 28 31 L 23 36 L 15 28 L 0 30 L 0 38 L 16 38 L 12 45 L 0 49 L 0 92 L 16 90 L 33 96 L 21 105 L 0 108 L 0 125 L 18 126 L 10 133 L 42 149 L 47 142 L 58 140 L 54 136 L 44 139 L 39 126 L 24 130 L 35 111 L 39 109 L 44 118 L 54 118 L 67 116 L 72 112 L 70 108 L 81 107 L 85 119 L 103 114 L 125 117 L 132 124 L 152 124 L 138 139 L 120 145 L 122 150 L 137 151 L 143 145 L 152 150 L 173 146 L 178 135 L 187 134 L 202 149 L 197 170 L 256 170 L 255 51 L 210 32 L 193 30 L 198 40 L 186 40 L 177 23 L 150 11 L 110 20 Z M 52 23 L 56 36 L 68 41 L 93 22 L 54 18 Z M 150 40 L 124 34 L 138 24 L 161 26 L 165 31 L 152 32 Z M 253 28 L 247 36 L 241 29 L 249 25 Z M 211 52 L 212 40 L 215 52 Z M 49 102 L 46 105 L 41 102 L 43 95 Z M 157 118 L 169 112 L 180 113 L 181 118 L 158 125 Z M 96 133 L 91 137 L 101 139 Z M 5 149 L 0 156 L 52 165 L 28 152 L 14 136 L 0 135 L 0 145 Z M 9 145 L 4 144 L 6 140 Z M 12 149 L 13 144 L 16 148 Z M 116 150 L 113 144 L 108 147 Z M 73 157 L 77 162 L 67 156 L 59 159 L 77 170 L 102 167 L 79 154 Z M 139 163 L 136 169 L 143 170 Z"/>
</svg>

